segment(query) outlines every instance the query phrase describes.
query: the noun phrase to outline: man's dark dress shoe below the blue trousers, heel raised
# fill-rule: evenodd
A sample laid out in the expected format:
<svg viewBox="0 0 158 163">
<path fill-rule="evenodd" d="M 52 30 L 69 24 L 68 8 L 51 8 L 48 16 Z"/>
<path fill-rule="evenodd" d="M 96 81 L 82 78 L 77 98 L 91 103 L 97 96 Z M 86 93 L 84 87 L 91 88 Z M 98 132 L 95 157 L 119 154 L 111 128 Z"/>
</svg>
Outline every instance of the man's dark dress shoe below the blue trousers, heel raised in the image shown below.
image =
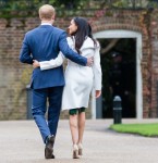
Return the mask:
<svg viewBox="0 0 158 163">
<path fill-rule="evenodd" d="M 53 143 L 54 143 L 54 136 L 48 136 L 46 140 L 46 147 L 45 147 L 45 158 L 46 159 L 54 159 L 53 155 Z"/>
</svg>

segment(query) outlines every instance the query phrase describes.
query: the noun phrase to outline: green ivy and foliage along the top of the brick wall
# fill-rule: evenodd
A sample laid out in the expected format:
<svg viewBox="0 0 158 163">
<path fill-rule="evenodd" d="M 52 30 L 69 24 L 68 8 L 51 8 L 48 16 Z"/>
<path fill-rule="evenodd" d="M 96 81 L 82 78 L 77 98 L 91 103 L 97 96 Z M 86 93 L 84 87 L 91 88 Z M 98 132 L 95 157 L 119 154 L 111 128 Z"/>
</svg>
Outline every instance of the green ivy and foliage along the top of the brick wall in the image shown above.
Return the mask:
<svg viewBox="0 0 158 163">
<path fill-rule="evenodd" d="M 52 4 L 58 10 L 58 16 L 85 14 L 88 10 L 101 9 L 146 9 L 158 8 L 158 0 L 0 0 L 1 17 L 37 16 L 38 8 Z"/>
</svg>

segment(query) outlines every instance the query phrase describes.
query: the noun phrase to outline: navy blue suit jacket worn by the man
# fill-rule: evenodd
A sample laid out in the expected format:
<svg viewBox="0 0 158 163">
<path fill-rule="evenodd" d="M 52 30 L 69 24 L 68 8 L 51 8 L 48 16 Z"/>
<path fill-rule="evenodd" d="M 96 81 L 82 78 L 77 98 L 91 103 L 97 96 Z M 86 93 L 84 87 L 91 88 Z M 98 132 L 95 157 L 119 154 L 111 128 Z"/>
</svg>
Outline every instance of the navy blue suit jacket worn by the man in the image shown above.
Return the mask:
<svg viewBox="0 0 158 163">
<path fill-rule="evenodd" d="M 33 60 L 49 61 L 58 57 L 61 51 L 65 58 L 81 65 L 86 65 L 87 59 L 75 53 L 66 42 L 66 33 L 50 25 L 39 27 L 26 33 L 20 53 L 20 61 L 33 64 Z M 32 75 L 31 87 L 41 89 L 64 86 L 63 67 L 40 71 L 35 68 Z"/>
</svg>

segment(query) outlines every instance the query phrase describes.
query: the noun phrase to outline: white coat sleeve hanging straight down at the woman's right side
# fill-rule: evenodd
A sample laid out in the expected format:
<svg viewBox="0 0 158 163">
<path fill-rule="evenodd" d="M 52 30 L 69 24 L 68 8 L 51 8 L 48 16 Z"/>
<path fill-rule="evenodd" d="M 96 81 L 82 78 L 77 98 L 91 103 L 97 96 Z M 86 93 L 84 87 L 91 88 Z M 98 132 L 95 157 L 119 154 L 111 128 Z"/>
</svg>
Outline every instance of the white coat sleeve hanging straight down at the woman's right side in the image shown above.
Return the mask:
<svg viewBox="0 0 158 163">
<path fill-rule="evenodd" d="M 102 72 L 101 72 L 101 66 L 100 66 L 100 47 L 99 43 L 97 42 L 97 47 L 95 48 L 95 55 L 94 55 L 94 87 L 95 90 L 101 90 L 101 80 L 102 80 Z"/>
</svg>

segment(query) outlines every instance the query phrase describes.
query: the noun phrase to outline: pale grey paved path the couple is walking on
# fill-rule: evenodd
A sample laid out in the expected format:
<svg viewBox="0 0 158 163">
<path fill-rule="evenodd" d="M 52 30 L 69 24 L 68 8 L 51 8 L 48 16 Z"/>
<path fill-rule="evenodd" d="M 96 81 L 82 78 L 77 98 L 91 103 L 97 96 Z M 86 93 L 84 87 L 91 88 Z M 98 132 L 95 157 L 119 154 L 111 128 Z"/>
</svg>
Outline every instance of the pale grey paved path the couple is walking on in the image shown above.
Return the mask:
<svg viewBox="0 0 158 163">
<path fill-rule="evenodd" d="M 123 120 L 123 123 L 158 120 Z M 60 121 L 54 145 L 56 160 L 44 159 L 44 145 L 34 121 L 0 122 L 0 163 L 158 163 L 158 138 L 118 134 L 108 129 L 112 120 L 88 120 L 84 155 L 72 159 L 68 121 Z"/>
</svg>

